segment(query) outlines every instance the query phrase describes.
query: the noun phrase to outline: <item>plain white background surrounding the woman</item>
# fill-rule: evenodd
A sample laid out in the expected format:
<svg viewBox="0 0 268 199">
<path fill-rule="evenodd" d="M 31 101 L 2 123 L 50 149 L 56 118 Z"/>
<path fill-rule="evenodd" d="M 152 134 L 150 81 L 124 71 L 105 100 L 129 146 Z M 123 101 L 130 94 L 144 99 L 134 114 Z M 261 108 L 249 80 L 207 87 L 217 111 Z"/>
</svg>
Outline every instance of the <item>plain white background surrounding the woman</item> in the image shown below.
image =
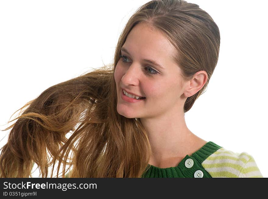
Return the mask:
<svg viewBox="0 0 268 199">
<path fill-rule="evenodd" d="M 0 1 L 0 129 L 48 87 L 113 60 L 135 1 Z M 185 114 L 206 141 L 267 164 L 267 2 L 189 0 L 220 29 L 220 55 L 207 91 Z M 1 131 L 2 139 L 8 131 Z M 2 147 L 6 137 L 0 142 Z"/>
</svg>

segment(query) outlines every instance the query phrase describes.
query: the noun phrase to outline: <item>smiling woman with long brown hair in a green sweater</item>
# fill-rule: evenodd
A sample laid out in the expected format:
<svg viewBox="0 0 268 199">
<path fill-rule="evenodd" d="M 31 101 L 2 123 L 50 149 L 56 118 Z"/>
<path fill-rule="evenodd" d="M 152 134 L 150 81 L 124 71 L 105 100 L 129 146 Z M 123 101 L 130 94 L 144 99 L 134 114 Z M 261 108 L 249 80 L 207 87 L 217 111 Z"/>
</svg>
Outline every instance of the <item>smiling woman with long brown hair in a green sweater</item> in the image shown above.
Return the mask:
<svg viewBox="0 0 268 199">
<path fill-rule="evenodd" d="M 48 177 L 58 163 L 57 177 L 61 164 L 62 176 L 72 166 L 66 177 L 262 177 L 252 156 L 185 124 L 219 49 L 219 29 L 198 5 L 146 3 L 122 31 L 111 67 L 52 86 L 21 109 L 0 176 L 29 177 L 36 163 Z"/>
</svg>

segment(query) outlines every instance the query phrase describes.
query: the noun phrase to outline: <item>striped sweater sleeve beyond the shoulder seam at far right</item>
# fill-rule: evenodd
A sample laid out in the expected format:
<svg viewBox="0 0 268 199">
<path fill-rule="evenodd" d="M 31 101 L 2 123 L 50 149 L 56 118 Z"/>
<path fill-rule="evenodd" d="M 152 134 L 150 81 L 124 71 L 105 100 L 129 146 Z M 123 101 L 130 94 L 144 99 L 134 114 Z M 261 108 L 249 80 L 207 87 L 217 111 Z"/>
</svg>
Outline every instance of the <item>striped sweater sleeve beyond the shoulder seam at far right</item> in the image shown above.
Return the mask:
<svg viewBox="0 0 268 199">
<path fill-rule="evenodd" d="M 243 177 L 243 178 L 262 178 L 263 175 L 261 174 L 254 158 L 250 156 L 249 161 L 247 161 L 241 172 L 239 173 L 238 177 Z"/>
</svg>

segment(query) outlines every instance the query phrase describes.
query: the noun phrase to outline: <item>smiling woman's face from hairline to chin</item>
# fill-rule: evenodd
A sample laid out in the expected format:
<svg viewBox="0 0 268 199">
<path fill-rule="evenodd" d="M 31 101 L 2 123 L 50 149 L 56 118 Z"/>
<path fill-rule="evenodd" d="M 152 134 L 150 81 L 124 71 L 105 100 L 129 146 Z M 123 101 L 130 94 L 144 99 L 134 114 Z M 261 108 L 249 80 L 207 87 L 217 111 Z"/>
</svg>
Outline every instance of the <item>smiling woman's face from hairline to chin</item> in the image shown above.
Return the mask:
<svg viewBox="0 0 268 199">
<path fill-rule="evenodd" d="M 154 118 L 183 110 L 181 71 L 172 58 L 176 52 L 159 31 L 139 23 L 130 31 L 115 68 L 117 111 L 126 118 Z M 160 66 L 146 60 L 157 62 Z M 123 90 L 137 100 L 123 94 Z"/>
</svg>

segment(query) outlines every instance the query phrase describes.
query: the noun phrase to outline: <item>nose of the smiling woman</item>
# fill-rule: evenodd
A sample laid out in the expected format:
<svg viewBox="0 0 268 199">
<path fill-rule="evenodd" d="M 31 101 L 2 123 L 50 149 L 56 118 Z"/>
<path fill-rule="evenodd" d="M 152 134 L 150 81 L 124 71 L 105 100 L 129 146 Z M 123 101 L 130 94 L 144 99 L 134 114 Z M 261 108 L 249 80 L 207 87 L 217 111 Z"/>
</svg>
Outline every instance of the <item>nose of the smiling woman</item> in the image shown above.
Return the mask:
<svg viewBox="0 0 268 199">
<path fill-rule="evenodd" d="M 121 81 L 125 85 L 137 85 L 140 77 L 140 67 L 138 64 L 132 63 L 125 71 Z"/>
</svg>

